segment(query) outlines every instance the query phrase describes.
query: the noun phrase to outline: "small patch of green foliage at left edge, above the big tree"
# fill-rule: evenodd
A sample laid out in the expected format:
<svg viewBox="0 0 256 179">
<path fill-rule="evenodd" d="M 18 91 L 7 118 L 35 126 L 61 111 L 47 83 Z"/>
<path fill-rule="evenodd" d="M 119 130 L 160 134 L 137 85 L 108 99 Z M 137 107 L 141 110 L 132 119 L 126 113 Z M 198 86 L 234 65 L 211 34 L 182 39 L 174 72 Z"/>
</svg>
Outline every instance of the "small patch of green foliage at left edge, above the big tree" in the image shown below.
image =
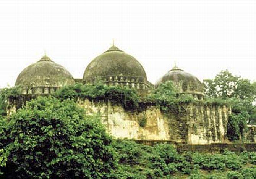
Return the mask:
<svg viewBox="0 0 256 179">
<path fill-rule="evenodd" d="M 0 116 L 6 116 L 8 98 L 16 99 L 20 94 L 20 87 L 7 87 L 0 89 Z"/>
</svg>

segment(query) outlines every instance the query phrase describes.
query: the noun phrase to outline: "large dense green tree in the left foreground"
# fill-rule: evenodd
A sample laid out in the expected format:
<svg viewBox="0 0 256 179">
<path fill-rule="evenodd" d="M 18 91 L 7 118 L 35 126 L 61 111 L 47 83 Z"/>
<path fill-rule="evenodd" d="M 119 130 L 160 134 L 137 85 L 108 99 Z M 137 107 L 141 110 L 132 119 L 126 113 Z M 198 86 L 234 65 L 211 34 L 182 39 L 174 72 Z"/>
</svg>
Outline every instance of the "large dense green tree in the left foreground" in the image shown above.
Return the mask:
<svg viewBox="0 0 256 179">
<path fill-rule="evenodd" d="M 0 121 L 2 177 L 104 178 L 116 164 L 111 143 L 99 118 L 73 100 L 38 97 Z"/>
</svg>

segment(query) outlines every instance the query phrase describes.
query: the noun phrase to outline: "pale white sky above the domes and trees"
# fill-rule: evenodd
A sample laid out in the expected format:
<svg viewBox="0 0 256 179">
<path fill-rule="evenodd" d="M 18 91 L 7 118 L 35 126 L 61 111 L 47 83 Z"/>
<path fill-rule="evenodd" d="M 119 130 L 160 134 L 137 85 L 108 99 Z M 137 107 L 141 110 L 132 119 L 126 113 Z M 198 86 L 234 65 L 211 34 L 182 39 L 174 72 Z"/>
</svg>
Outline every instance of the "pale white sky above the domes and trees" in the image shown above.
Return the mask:
<svg viewBox="0 0 256 179">
<path fill-rule="evenodd" d="M 47 55 L 75 78 L 112 38 L 155 83 L 177 66 L 256 80 L 255 0 L 0 0 L 0 87 Z"/>
</svg>

